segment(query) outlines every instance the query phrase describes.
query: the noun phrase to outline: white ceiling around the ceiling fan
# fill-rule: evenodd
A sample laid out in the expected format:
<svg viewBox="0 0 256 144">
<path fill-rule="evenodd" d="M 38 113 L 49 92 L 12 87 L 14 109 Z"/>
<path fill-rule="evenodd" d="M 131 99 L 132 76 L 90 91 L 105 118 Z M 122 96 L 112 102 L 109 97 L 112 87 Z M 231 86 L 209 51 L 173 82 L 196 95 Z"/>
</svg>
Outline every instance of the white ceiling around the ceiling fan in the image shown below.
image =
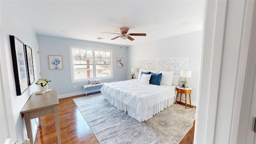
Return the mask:
<svg viewBox="0 0 256 144">
<path fill-rule="evenodd" d="M 119 33 L 119 28 L 126 26 L 128 33 L 147 34 L 131 36 L 133 41 L 122 40 L 127 46 L 202 30 L 204 15 L 203 0 L 18 2 L 37 34 L 116 45 L 120 38 L 110 39 L 117 34 L 101 32 Z"/>
</svg>

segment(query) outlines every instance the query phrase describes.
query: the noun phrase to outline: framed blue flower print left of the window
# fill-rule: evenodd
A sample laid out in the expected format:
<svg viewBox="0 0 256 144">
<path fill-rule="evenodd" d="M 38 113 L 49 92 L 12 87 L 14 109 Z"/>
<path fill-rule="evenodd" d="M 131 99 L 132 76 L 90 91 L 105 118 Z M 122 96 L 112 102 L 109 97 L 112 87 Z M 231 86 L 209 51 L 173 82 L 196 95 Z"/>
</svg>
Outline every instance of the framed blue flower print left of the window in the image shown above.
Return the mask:
<svg viewBox="0 0 256 144">
<path fill-rule="evenodd" d="M 62 68 L 62 56 L 48 56 L 49 69 L 50 70 L 61 70 Z"/>
</svg>

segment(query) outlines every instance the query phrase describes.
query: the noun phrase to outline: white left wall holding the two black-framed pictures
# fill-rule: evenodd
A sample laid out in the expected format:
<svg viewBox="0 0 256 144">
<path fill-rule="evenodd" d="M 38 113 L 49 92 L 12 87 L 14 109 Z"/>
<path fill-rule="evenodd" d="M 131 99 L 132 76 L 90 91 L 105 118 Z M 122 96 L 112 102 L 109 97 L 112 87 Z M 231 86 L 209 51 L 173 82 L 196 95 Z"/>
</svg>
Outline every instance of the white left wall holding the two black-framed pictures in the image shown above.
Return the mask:
<svg viewBox="0 0 256 144">
<path fill-rule="evenodd" d="M 30 25 L 30 22 L 26 19 L 26 16 L 22 12 L 22 7 L 18 6 L 16 2 L 12 1 L 1 1 L 1 52 L 0 52 L 0 62 L 1 62 L 1 74 L 2 74 L 2 85 L 1 85 L 1 100 L 6 106 L 6 126 L 9 130 L 7 134 L 8 138 L 11 138 L 11 141 L 18 140 L 18 142 L 23 142 L 26 138 L 26 126 L 24 118 L 20 114 L 23 106 L 26 104 L 30 95 L 38 90 L 38 87 L 35 85 L 29 86 L 29 88 L 21 95 L 16 96 L 14 72 L 12 67 L 12 55 L 10 48 L 10 38 L 9 35 L 14 35 L 24 44 L 27 44 L 32 48 L 32 56 L 35 56 L 34 49 L 34 38 L 36 34 Z M 35 78 L 36 75 L 36 61 L 34 61 L 34 70 Z M 2 108 L 2 106 L 1 106 Z M 2 115 L 1 115 L 2 116 Z M 37 127 L 35 120 L 32 120 L 32 126 Z M 1 121 L 1 125 L 4 124 Z M 2 132 L 1 127 L 1 132 Z M 6 132 L 8 132 L 6 130 Z M 36 130 L 34 128 L 34 130 Z M 1 143 L 2 136 L 5 139 L 6 136 L 1 134 Z M 12 142 L 14 143 L 14 142 Z"/>
</svg>

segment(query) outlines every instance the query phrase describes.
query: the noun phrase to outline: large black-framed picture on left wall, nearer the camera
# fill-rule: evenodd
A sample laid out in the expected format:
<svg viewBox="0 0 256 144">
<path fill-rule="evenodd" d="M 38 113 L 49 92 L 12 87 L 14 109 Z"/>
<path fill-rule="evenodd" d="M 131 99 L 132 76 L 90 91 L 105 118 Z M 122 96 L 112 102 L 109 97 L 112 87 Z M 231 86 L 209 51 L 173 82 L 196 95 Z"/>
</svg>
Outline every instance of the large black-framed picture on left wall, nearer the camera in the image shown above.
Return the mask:
<svg viewBox="0 0 256 144">
<path fill-rule="evenodd" d="M 20 96 L 26 91 L 26 89 L 28 89 L 28 73 L 24 43 L 15 36 L 10 36 L 10 45 L 16 94 L 17 96 Z"/>
</svg>

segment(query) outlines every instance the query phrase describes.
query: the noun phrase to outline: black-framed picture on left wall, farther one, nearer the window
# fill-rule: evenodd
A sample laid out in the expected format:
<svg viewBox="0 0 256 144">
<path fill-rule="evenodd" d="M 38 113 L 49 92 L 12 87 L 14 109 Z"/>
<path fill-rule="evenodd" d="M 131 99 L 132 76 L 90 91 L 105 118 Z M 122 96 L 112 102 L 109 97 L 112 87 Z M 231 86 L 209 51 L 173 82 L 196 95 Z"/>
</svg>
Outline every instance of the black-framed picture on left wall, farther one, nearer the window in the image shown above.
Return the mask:
<svg viewBox="0 0 256 144">
<path fill-rule="evenodd" d="M 28 45 L 25 44 L 25 52 L 26 52 L 26 62 L 27 62 L 27 70 L 28 70 L 28 84 L 31 85 L 35 81 L 32 48 L 30 48 Z"/>
</svg>

